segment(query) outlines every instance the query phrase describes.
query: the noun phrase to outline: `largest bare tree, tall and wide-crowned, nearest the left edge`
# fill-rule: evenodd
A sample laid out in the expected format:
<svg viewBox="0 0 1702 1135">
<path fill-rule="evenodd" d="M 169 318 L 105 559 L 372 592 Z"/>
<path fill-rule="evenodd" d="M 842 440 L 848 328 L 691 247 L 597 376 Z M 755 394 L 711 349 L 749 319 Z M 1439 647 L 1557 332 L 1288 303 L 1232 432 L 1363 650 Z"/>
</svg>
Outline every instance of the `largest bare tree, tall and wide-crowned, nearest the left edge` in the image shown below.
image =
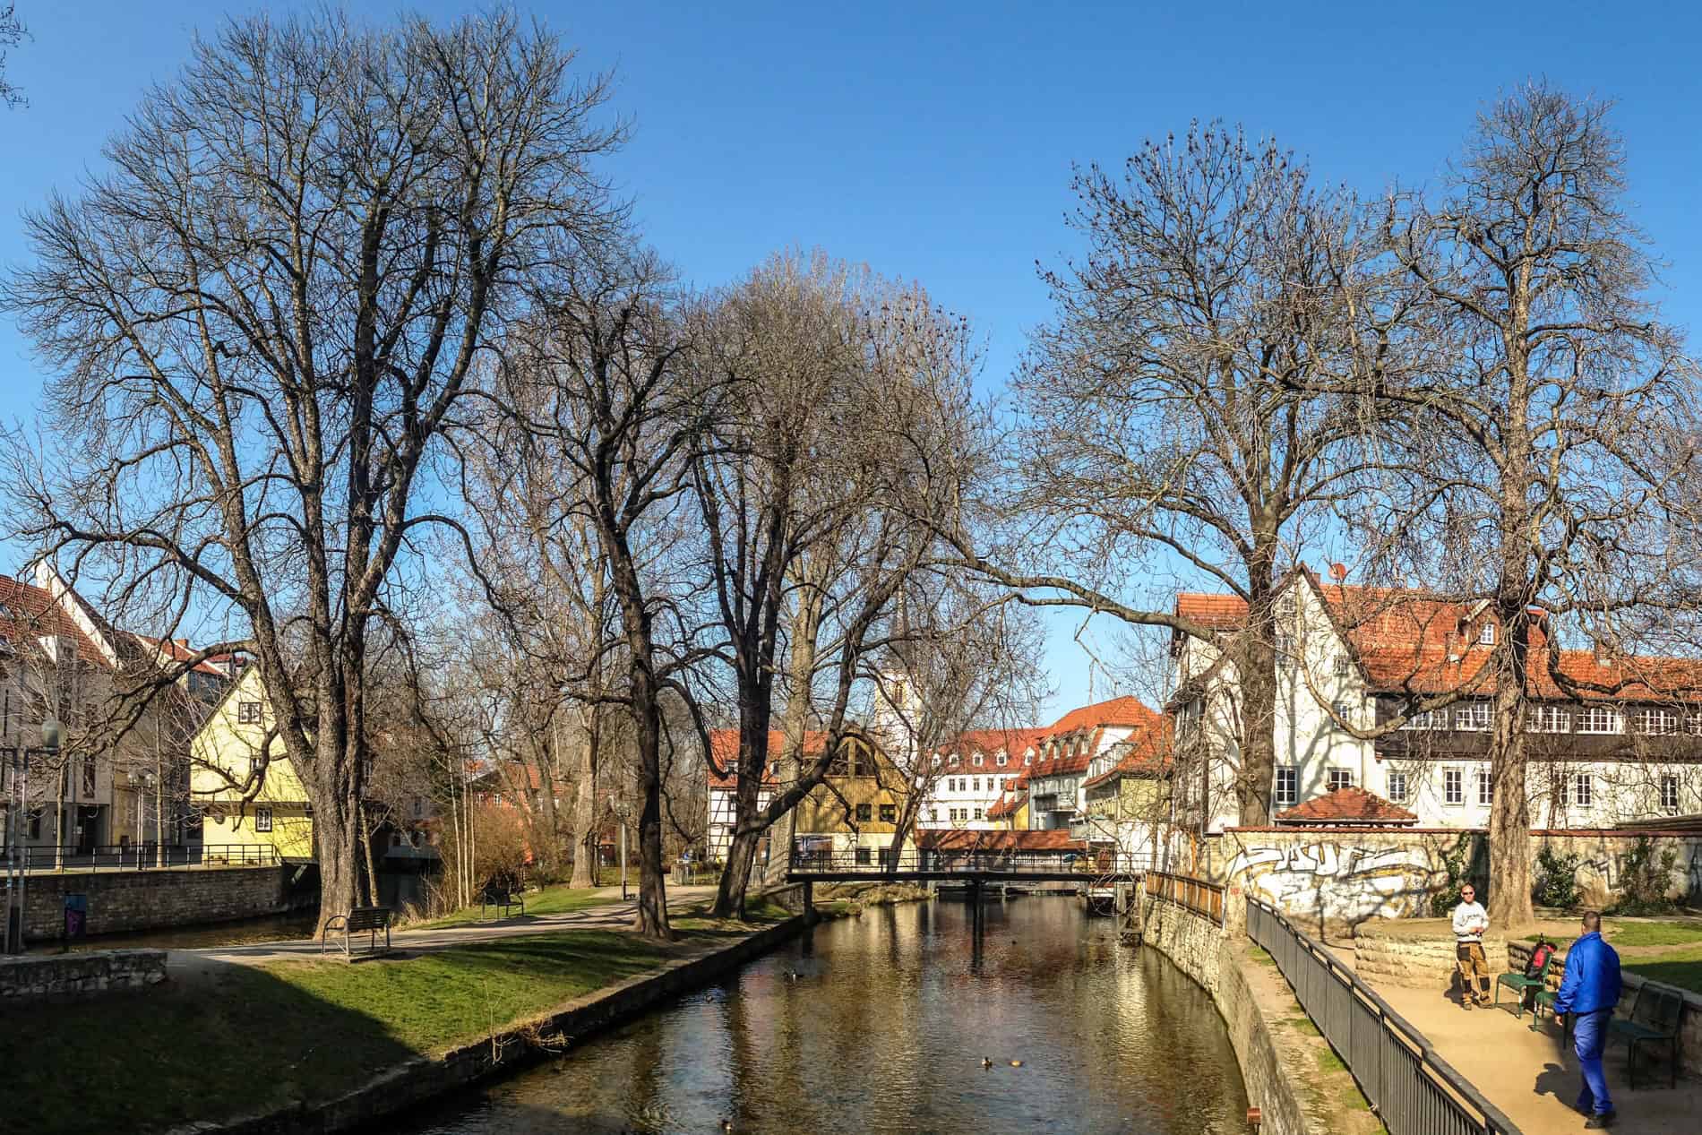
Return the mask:
<svg viewBox="0 0 1702 1135">
<path fill-rule="evenodd" d="M 468 374 L 563 254 L 618 220 L 589 162 L 604 77 L 512 14 L 371 29 L 327 12 L 194 44 L 29 214 L 5 286 L 65 444 L 5 480 L 107 607 L 230 613 L 315 812 L 322 912 L 366 893 L 369 626 L 441 516 Z M 9 446 L 10 449 L 10 446 Z"/>
</svg>

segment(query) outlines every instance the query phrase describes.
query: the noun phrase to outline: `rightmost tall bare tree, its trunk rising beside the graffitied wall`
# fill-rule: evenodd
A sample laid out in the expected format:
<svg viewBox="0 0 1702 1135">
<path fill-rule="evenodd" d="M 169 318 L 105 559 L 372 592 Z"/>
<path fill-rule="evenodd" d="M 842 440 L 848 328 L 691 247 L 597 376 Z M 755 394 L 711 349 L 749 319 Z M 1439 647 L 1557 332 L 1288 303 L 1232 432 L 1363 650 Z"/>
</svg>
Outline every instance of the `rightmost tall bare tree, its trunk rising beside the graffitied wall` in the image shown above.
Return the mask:
<svg viewBox="0 0 1702 1135">
<path fill-rule="evenodd" d="M 1530 907 L 1527 703 L 1535 679 L 1617 694 L 1561 667 L 1562 638 L 1615 647 L 1659 609 L 1693 609 L 1685 499 L 1693 362 L 1648 299 L 1654 260 L 1622 206 L 1608 104 L 1537 83 L 1479 116 L 1440 201 L 1391 201 L 1425 366 L 1375 393 L 1428 422 L 1421 509 L 1399 524 L 1418 568 L 1486 601 L 1493 698 L 1489 914 Z"/>
</svg>

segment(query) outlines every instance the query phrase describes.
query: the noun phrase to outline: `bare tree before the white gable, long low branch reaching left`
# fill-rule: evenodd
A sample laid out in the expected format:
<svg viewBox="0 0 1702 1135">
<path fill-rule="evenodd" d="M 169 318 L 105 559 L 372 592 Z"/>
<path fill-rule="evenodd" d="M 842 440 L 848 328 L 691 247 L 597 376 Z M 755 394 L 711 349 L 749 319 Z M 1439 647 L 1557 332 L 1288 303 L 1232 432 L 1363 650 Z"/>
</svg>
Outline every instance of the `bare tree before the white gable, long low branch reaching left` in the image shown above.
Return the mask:
<svg viewBox="0 0 1702 1135">
<path fill-rule="evenodd" d="M 1377 233 L 1275 143 L 1217 126 L 1147 143 L 1120 179 L 1089 167 L 1076 192 L 1088 255 L 1047 274 L 1057 318 L 1016 381 L 1011 475 L 985 490 L 984 516 L 1018 536 L 1002 550 L 975 533 L 955 543 L 1025 602 L 1220 647 L 1239 677 L 1225 759 L 1241 822 L 1266 824 L 1276 582 L 1300 528 L 1384 463 L 1343 381 L 1399 315 Z M 1305 388 L 1326 381 L 1343 393 Z M 1132 589 L 1156 572 L 1227 589 L 1244 623 L 1224 636 L 1144 606 Z"/>
</svg>

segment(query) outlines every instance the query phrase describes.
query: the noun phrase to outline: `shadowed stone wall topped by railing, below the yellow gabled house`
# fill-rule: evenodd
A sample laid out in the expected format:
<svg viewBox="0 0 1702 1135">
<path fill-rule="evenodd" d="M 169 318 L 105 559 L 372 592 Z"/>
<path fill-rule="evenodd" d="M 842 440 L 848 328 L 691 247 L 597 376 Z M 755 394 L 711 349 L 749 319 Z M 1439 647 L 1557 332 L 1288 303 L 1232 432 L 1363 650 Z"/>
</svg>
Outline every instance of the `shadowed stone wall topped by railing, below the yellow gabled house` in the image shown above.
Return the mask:
<svg viewBox="0 0 1702 1135">
<path fill-rule="evenodd" d="M 150 931 L 283 914 L 318 902 L 311 866 L 170 868 L 31 875 L 24 934 L 32 943 L 65 936 L 65 895 L 89 900 L 87 934 Z"/>
</svg>

